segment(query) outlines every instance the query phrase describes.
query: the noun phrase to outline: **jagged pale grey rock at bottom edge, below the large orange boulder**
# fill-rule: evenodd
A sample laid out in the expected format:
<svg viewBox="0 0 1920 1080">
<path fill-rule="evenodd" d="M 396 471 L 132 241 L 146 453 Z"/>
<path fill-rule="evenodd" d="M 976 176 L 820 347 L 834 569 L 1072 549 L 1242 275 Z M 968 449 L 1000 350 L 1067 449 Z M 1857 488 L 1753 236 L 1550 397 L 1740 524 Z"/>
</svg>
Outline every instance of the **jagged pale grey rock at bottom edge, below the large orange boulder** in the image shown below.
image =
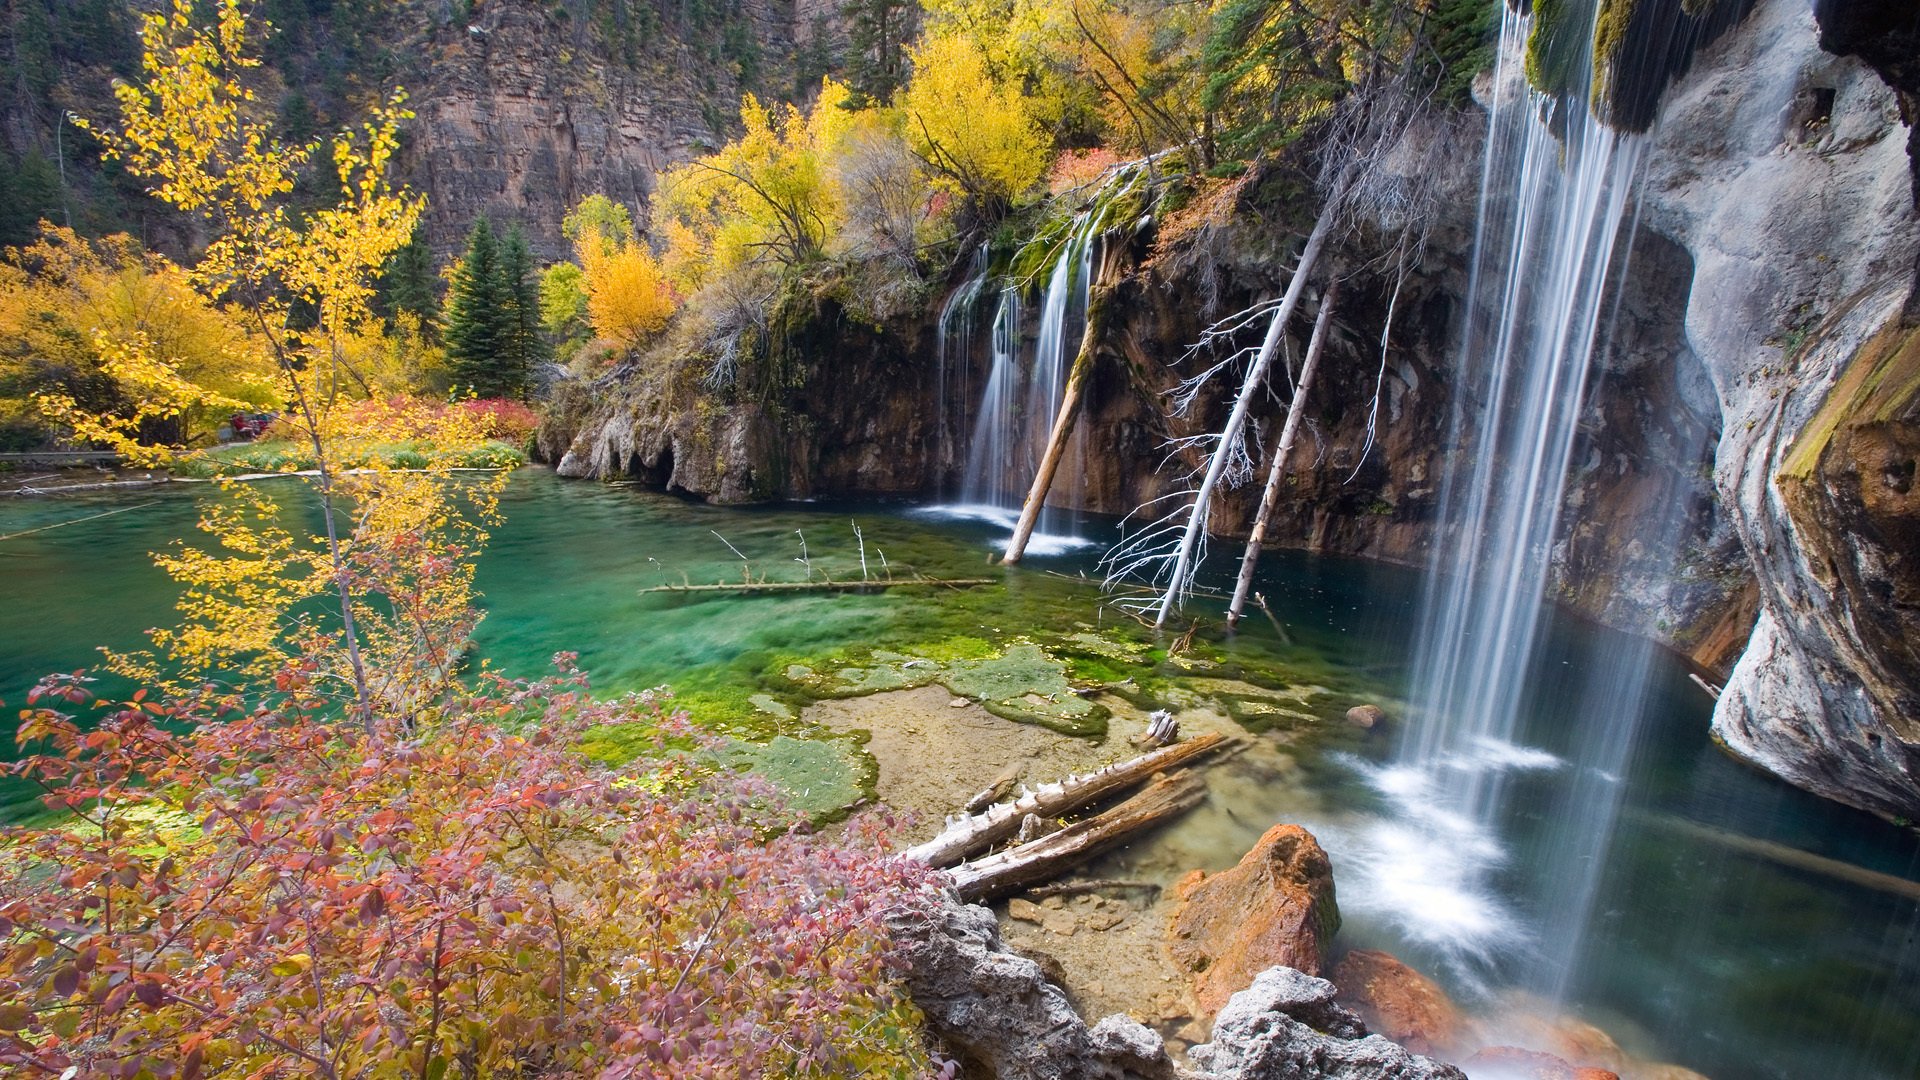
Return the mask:
<svg viewBox="0 0 1920 1080">
<path fill-rule="evenodd" d="M 1452 1065 L 1369 1036 L 1323 978 L 1275 967 L 1233 995 L 1188 1053 L 1208 1080 L 1467 1080 Z"/>
</svg>

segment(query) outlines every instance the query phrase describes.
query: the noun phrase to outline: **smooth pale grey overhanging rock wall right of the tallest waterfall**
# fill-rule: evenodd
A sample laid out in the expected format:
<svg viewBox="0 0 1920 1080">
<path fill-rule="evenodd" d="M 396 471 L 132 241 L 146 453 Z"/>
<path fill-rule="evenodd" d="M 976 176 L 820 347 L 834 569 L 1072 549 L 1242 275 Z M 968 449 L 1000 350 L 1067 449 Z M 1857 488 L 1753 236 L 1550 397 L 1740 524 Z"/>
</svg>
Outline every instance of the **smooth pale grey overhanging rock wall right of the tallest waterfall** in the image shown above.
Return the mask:
<svg viewBox="0 0 1920 1080">
<path fill-rule="evenodd" d="M 1686 340 L 1759 621 L 1715 713 L 1736 753 L 1920 815 L 1912 471 L 1920 225 L 1893 90 L 1763 0 L 1668 96 L 1645 221 L 1693 259 Z"/>
</svg>

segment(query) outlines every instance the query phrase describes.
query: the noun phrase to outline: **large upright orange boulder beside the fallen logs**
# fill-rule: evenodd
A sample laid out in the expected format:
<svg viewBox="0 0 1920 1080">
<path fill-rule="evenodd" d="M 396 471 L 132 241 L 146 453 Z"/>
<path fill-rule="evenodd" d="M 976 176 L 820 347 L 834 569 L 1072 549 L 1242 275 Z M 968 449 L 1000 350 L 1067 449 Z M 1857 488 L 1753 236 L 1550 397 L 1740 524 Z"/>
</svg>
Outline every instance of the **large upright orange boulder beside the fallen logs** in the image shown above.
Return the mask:
<svg viewBox="0 0 1920 1080">
<path fill-rule="evenodd" d="M 1173 959 L 1192 974 L 1208 1013 L 1269 967 L 1319 974 L 1340 928 L 1332 863 L 1298 824 L 1275 824 L 1236 867 L 1194 871 L 1175 892 Z"/>
</svg>

